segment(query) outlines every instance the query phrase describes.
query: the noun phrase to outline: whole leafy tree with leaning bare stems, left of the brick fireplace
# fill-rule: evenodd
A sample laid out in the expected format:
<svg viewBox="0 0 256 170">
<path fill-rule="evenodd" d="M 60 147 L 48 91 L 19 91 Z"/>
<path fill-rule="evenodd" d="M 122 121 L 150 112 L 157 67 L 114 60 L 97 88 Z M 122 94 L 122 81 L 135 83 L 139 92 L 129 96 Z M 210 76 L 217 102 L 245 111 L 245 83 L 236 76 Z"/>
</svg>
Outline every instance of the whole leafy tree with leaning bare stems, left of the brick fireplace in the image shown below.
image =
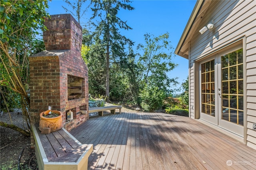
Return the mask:
<svg viewBox="0 0 256 170">
<path fill-rule="evenodd" d="M 30 127 L 28 56 L 37 52 L 38 29 L 46 29 L 47 0 L 3 0 L 0 8 L 0 85 L 20 95 L 24 120 Z M 18 96 L 18 95 L 17 95 Z M 8 102 L 7 102 L 8 103 Z M 8 106 L 8 104 L 6 104 Z M 29 128 L 30 129 L 30 128 Z"/>
</svg>

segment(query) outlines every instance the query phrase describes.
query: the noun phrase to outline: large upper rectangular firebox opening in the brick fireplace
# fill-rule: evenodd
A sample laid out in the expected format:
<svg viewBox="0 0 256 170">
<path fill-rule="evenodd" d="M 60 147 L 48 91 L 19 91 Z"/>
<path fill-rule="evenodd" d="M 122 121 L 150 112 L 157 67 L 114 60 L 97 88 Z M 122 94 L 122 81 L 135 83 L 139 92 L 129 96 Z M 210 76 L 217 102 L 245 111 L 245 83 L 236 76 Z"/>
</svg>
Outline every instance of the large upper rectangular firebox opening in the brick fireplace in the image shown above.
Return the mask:
<svg viewBox="0 0 256 170">
<path fill-rule="evenodd" d="M 84 78 L 68 75 L 68 100 L 85 98 Z"/>
</svg>

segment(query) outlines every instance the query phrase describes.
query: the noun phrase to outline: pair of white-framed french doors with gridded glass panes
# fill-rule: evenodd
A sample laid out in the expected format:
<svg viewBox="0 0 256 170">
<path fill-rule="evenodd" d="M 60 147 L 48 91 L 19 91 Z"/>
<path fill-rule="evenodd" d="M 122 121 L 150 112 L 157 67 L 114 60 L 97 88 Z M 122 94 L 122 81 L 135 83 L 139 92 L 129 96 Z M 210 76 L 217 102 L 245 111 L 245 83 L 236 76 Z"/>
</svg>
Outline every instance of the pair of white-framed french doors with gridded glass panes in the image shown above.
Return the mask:
<svg viewBox="0 0 256 170">
<path fill-rule="evenodd" d="M 243 49 L 200 62 L 200 119 L 244 135 Z"/>
</svg>

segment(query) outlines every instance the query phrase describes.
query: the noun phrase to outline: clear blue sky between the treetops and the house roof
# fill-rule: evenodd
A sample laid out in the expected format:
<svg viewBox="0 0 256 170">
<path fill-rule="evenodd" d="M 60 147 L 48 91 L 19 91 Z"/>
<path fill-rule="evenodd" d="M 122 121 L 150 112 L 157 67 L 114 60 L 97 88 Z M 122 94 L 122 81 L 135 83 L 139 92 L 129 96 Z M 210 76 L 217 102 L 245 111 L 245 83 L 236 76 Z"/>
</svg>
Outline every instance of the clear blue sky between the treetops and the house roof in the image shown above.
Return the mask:
<svg viewBox="0 0 256 170">
<path fill-rule="evenodd" d="M 70 2 L 74 1 L 71 0 Z M 145 33 L 159 36 L 168 32 L 174 52 L 195 4 L 196 0 L 134 0 L 130 5 L 135 10 L 120 10 L 118 12 L 121 20 L 127 21 L 127 25 L 132 27 L 132 30 L 121 31 L 121 34 L 135 42 L 135 50 L 138 43 L 144 43 Z M 65 6 L 70 9 L 63 0 L 52 0 L 48 2 L 48 5 L 47 11 L 50 15 L 70 13 L 62 8 Z M 91 17 L 91 14 L 88 12 L 82 17 L 80 21 L 82 27 L 83 23 L 86 23 Z M 76 17 L 74 16 L 74 18 Z M 178 66 L 169 73 L 169 76 L 171 78 L 178 77 L 178 82 L 181 84 L 188 76 L 188 60 L 173 55 L 172 62 Z"/>
</svg>

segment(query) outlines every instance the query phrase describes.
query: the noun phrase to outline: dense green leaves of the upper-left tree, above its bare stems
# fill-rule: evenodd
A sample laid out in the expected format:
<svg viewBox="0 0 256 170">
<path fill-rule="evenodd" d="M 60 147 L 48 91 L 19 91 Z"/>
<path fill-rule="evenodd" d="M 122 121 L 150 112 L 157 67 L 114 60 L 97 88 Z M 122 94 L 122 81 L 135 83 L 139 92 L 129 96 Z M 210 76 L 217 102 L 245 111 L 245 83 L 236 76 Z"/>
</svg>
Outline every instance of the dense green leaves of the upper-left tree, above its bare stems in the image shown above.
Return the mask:
<svg viewBox="0 0 256 170">
<path fill-rule="evenodd" d="M 2 43 L 8 43 L 17 51 L 38 34 L 37 29 L 46 29 L 44 18 L 48 17 L 45 8 L 47 0 L 4 0 L 1 1 L 0 33 Z"/>
</svg>

